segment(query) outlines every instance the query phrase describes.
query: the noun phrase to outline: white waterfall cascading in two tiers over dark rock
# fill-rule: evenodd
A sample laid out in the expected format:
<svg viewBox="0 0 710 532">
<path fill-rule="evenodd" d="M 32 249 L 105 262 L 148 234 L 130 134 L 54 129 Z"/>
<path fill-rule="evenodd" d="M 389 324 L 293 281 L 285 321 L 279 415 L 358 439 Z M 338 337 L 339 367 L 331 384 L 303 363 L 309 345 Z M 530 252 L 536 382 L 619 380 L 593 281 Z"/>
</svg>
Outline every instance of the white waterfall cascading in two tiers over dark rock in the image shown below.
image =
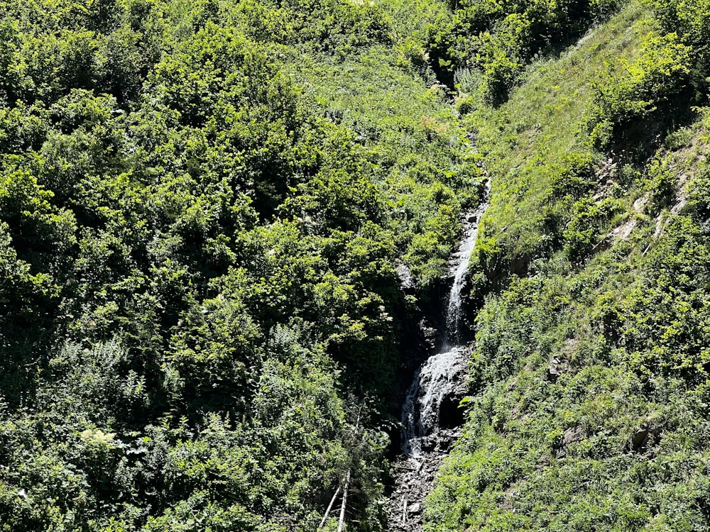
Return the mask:
<svg viewBox="0 0 710 532">
<path fill-rule="evenodd" d="M 441 353 L 432 355 L 415 373 L 402 409 L 404 426 L 402 450 L 416 458 L 422 453 L 422 438 L 439 428 L 442 401 L 451 397 L 461 386 L 461 375 L 466 369 L 468 350 L 461 343 L 461 311 L 466 273 L 471 253 L 476 248 L 479 221 L 488 207 L 490 182 L 486 182 L 486 201 L 476 211 L 464 216 L 461 244 L 450 260 L 453 283 L 445 310 L 446 331 Z"/>
</svg>

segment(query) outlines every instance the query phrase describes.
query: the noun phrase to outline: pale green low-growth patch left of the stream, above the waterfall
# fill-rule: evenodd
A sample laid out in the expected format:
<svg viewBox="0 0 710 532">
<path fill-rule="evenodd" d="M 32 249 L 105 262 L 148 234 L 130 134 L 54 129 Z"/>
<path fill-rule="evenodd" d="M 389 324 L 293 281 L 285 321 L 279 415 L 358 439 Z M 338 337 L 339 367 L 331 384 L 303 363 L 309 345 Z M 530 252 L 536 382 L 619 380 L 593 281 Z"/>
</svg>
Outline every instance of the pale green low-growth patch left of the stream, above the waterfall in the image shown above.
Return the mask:
<svg viewBox="0 0 710 532">
<path fill-rule="evenodd" d="M 326 116 L 356 133 L 397 248 L 427 284 L 441 274 L 459 212 L 479 201 L 483 178 L 442 89 L 413 72 L 396 48 L 376 46 L 346 60 L 304 56 L 292 75 Z"/>
</svg>

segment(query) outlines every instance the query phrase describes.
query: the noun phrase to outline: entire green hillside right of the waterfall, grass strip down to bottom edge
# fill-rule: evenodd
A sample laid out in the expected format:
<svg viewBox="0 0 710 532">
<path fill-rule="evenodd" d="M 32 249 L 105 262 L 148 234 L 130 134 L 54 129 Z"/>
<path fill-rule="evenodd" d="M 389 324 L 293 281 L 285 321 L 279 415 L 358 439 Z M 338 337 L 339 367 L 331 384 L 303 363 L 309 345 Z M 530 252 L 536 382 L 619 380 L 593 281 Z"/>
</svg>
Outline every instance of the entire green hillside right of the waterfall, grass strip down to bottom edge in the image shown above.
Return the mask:
<svg viewBox="0 0 710 532">
<path fill-rule="evenodd" d="M 638 55 L 647 16 L 631 4 L 467 117 L 493 178 L 478 267 L 532 264 L 479 314 L 469 422 L 425 530 L 707 529 L 710 121 L 699 113 L 638 167 L 608 164 L 584 128 L 590 83 Z M 591 161 L 582 199 L 613 203 L 589 217 L 582 260 L 549 228 L 577 209 L 579 194 L 559 194 L 570 153 Z M 605 240 L 622 223 L 628 238 Z"/>
</svg>

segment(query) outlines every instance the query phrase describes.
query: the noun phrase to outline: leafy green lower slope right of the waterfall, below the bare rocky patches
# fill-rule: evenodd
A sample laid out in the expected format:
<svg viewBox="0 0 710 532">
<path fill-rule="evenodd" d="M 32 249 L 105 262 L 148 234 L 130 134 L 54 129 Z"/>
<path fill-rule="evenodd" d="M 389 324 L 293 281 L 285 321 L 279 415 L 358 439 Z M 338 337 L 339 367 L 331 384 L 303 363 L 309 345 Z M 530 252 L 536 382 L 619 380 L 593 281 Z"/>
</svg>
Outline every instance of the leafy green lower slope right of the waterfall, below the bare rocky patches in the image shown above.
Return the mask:
<svg viewBox="0 0 710 532">
<path fill-rule="evenodd" d="M 675 519 L 702 529 L 706 313 L 690 299 L 699 292 L 676 284 L 682 273 L 667 271 L 698 269 L 684 255 L 705 253 L 686 244 L 691 227 L 670 226 L 631 265 L 623 247 L 577 275 L 561 262 L 487 302 L 466 434 L 432 494 L 429 530 L 641 530 Z M 701 269 L 698 284 L 685 277 L 692 287 L 704 284 Z M 674 296 L 661 302 L 664 290 Z"/>
</svg>

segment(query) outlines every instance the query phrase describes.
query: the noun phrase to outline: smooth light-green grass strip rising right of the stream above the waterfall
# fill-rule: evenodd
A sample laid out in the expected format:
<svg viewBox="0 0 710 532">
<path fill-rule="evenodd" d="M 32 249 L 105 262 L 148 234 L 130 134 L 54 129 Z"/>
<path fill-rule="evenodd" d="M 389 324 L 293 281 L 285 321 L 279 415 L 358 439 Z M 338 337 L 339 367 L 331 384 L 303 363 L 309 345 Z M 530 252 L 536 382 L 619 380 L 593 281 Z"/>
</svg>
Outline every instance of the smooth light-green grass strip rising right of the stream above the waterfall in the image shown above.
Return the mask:
<svg viewBox="0 0 710 532">
<path fill-rule="evenodd" d="M 532 258 L 545 248 L 545 207 L 560 200 L 551 186 L 565 157 L 582 153 L 603 162 L 584 131 L 593 83 L 609 62 L 638 56 L 638 36 L 650 31 L 648 15 L 640 3 L 631 3 L 559 58 L 532 65 L 506 104 L 481 106 L 464 118 L 478 134 L 491 175 L 486 247 L 501 248 L 510 258 Z"/>
</svg>

